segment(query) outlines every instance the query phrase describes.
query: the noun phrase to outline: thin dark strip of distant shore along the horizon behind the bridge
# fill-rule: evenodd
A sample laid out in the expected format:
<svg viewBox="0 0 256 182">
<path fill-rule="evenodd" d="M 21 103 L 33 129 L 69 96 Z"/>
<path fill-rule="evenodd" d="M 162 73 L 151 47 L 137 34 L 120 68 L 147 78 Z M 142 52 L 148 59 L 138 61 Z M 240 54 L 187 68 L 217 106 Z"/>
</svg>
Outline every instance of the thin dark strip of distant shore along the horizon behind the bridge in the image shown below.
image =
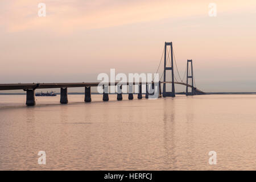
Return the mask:
<svg viewBox="0 0 256 182">
<path fill-rule="evenodd" d="M 57 95 L 59 95 L 60 93 L 56 93 Z M 84 95 L 83 92 L 71 92 L 68 93 L 69 95 Z M 116 93 L 109 93 L 109 94 L 116 94 Z M 125 93 L 123 93 L 125 94 Z M 185 94 L 184 92 L 180 92 L 180 93 L 176 93 L 178 95 L 183 95 Z M 256 92 L 205 92 L 204 95 L 213 95 L 213 94 L 217 94 L 217 95 L 254 95 L 256 94 Z M 25 93 L 0 93 L 0 95 L 26 95 Z M 92 93 L 92 95 L 101 95 L 100 93 Z"/>
</svg>

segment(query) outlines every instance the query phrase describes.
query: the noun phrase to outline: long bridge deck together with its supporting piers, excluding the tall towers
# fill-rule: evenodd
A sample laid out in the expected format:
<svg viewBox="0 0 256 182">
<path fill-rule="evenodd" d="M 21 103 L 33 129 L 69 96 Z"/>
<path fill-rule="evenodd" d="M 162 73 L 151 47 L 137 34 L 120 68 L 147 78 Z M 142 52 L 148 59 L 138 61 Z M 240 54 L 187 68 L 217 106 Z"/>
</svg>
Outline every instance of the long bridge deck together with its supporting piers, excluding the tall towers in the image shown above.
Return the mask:
<svg viewBox="0 0 256 182">
<path fill-rule="evenodd" d="M 101 85 L 100 85 L 101 84 Z M 84 87 L 85 88 L 85 102 L 91 102 L 91 87 L 92 86 L 102 86 L 104 89 L 103 92 L 103 101 L 109 100 L 109 89 L 108 86 L 118 86 L 119 92 L 117 93 L 117 100 L 122 100 L 122 85 L 129 86 L 129 100 L 133 100 L 133 85 L 138 85 L 138 99 L 142 99 L 142 85 L 146 85 L 146 93 L 145 98 L 148 98 L 148 95 L 154 95 L 157 97 L 162 97 L 161 92 L 161 84 L 172 84 L 171 81 L 166 82 L 151 82 L 151 84 L 148 84 L 147 82 L 133 82 L 132 84 L 129 82 L 74 82 L 74 83 L 32 83 L 32 84 L 0 84 L 0 90 L 24 90 L 27 92 L 27 98 L 26 98 L 26 105 L 27 106 L 34 106 L 35 105 L 35 90 L 36 89 L 48 89 L 48 88 L 60 88 L 60 103 L 61 104 L 68 104 L 68 88 L 78 88 L 78 87 Z M 174 84 L 180 84 L 185 85 L 192 90 L 194 90 L 194 94 L 204 94 L 199 89 L 194 88 L 192 85 L 185 84 L 183 82 L 175 82 Z M 150 86 L 148 86 L 150 85 Z M 159 86 L 160 85 L 160 86 Z M 105 88 L 104 88 L 105 87 Z M 148 90 L 153 89 L 153 93 L 148 92 Z M 165 96 L 163 96 L 165 97 Z"/>
</svg>

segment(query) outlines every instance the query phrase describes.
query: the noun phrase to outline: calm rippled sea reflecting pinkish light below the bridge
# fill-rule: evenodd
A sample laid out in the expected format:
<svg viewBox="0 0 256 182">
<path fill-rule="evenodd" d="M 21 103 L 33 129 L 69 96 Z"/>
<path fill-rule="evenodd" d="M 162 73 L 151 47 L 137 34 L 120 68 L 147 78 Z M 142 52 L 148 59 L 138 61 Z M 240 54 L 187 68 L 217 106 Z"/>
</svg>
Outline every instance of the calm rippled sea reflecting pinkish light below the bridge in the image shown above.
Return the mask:
<svg viewBox="0 0 256 182">
<path fill-rule="evenodd" d="M 0 96 L 1 170 L 256 169 L 255 95 L 68 97 L 68 105 L 57 96 L 26 107 L 26 96 Z"/>
</svg>

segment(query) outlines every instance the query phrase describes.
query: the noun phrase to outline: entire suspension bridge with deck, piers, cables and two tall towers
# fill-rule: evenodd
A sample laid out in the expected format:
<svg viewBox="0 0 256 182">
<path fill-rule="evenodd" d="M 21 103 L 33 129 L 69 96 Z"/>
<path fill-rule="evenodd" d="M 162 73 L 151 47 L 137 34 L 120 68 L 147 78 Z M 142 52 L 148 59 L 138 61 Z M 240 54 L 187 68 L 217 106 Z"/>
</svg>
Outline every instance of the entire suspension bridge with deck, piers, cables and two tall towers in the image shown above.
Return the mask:
<svg viewBox="0 0 256 182">
<path fill-rule="evenodd" d="M 164 55 L 164 56 L 163 56 Z M 76 82 L 76 83 L 32 83 L 32 84 L 0 84 L 0 90 L 24 90 L 26 91 L 26 105 L 34 106 L 35 105 L 35 90 L 36 89 L 48 89 L 48 88 L 60 88 L 60 103 L 68 104 L 68 88 L 85 88 L 85 102 L 91 102 L 91 87 L 99 86 L 102 84 L 103 88 L 103 101 L 109 100 L 109 86 L 117 86 L 117 100 L 122 100 L 122 86 L 129 86 L 129 100 L 133 100 L 134 94 L 134 85 L 138 85 L 138 99 L 142 99 L 142 85 L 146 85 L 145 98 L 154 97 L 175 97 L 175 84 L 186 86 L 185 94 L 187 96 L 193 96 L 198 94 L 205 94 L 203 91 L 196 88 L 195 76 L 193 73 L 193 64 L 192 60 L 187 60 L 187 67 L 184 72 L 183 78 L 180 77 L 179 69 L 177 68 L 176 58 L 174 54 L 174 49 L 172 47 L 172 42 L 166 42 L 164 44 L 164 49 L 162 52 L 162 56 L 160 59 L 160 63 L 158 65 L 158 69 L 156 73 L 159 72 L 160 65 L 163 63 L 163 72 L 159 79 L 159 81 L 152 82 Z M 168 66 L 169 64 L 169 66 Z M 170 81 L 168 81 L 167 72 L 171 72 Z M 175 76 L 175 72 L 177 72 L 177 77 Z M 187 73 L 187 74 L 186 74 Z M 185 81 L 185 76 L 186 81 Z M 162 86 L 163 84 L 163 92 Z M 167 84 L 171 84 L 171 92 L 167 92 Z M 189 92 L 189 88 L 191 88 L 191 92 Z"/>
</svg>

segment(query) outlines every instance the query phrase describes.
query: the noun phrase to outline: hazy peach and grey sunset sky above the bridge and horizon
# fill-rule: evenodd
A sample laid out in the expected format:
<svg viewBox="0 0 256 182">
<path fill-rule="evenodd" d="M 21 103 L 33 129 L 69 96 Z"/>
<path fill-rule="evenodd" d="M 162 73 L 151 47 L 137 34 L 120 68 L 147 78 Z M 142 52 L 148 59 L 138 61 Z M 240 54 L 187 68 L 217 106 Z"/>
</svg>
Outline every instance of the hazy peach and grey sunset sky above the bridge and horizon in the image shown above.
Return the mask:
<svg viewBox="0 0 256 182">
<path fill-rule="evenodd" d="M 0 83 L 152 73 L 172 41 L 181 75 L 193 59 L 197 88 L 256 92 L 255 22 L 255 0 L 1 0 Z"/>
</svg>

